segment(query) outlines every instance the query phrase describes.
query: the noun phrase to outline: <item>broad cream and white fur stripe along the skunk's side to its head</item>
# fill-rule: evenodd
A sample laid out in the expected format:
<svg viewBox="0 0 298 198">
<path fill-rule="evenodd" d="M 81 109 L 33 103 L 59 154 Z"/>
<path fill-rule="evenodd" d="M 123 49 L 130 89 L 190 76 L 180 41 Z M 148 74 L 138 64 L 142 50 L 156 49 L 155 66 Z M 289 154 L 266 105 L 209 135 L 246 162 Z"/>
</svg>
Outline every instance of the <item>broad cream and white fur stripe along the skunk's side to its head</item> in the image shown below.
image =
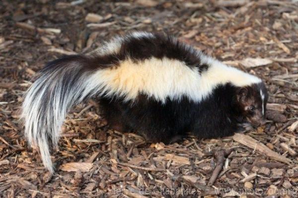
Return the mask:
<svg viewBox="0 0 298 198">
<path fill-rule="evenodd" d="M 201 101 L 219 84 L 246 86 L 261 82 L 253 75 L 211 58 L 202 60 L 210 65 L 202 74 L 197 67 L 186 66 L 178 60 L 151 58 L 137 63 L 130 59 L 122 61 L 114 69 L 98 70 L 92 78 L 107 95 L 125 96 L 130 100 L 144 93 L 162 102 L 167 97 L 180 99 L 182 96 Z"/>
</svg>

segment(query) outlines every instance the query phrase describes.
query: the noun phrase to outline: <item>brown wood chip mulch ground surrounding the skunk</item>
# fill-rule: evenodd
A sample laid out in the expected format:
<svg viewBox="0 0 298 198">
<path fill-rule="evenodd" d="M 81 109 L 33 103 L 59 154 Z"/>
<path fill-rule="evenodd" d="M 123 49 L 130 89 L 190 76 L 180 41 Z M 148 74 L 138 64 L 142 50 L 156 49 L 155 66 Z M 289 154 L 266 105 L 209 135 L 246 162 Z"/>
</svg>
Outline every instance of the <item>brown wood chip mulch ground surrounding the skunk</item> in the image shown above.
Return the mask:
<svg viewBox="0 0 298 198">
<path fill-rule="evenodd" d="M 134 30 L 173 34 L 264 79 L 266 127 L 148 143 L 109 130 L 100 105 L 86 101 L 66 119 L 50 175 L 18 121 L 29 80 L 50 60 Z M 297 0 L 1 0 L 0 197 L 295 198 L 297 60 Z"/>
</svg>

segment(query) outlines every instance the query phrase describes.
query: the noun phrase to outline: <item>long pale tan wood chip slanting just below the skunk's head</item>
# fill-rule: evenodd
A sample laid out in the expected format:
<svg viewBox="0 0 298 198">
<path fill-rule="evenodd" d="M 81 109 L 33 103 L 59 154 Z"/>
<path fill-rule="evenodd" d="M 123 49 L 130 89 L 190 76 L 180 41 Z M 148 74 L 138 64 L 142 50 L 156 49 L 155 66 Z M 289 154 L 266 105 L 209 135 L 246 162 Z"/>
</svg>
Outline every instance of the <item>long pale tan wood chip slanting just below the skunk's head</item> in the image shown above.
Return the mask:
<svg viewBox="0 0 298 198">
<path fill-rule="evenodd" d="M 233 140 L 235 140 L 241 144 L 244 144 L 245 146 L 248 146 L 249 148 L 252 148 L 262 154 L 265 154 L 266 156 L 268 156 L 269 158 L 271 158 L 273 160 L 287 163 L 289 165 L 292 163 L 292 161 L 290 159 L 288 159 L 284 156 L 281 156 L 277 152 L 274 152 L 273 150 L 269 149 L 263 143 L 258 142 L 257 140 L 255 140 L 254 138 L 252 138 L 248 135 L 241 134 L 241 133 L 235 133 L 233 135 Z"/>
</svg>

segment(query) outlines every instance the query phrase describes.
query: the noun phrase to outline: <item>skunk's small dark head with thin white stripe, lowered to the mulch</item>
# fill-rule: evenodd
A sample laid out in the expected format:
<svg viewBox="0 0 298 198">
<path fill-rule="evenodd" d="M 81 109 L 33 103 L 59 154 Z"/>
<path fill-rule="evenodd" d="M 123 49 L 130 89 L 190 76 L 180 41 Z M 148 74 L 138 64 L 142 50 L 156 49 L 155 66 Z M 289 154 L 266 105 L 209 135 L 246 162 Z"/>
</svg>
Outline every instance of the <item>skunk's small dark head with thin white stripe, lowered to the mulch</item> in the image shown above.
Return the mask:
<svg viewBox="0 0 298 198">
<path fill-rule="evenodd" d="M 236 92 L 236 103 L 241 117 L 259 127 L 266 124 L 266 104 L 268 93 L 264 82 L 239 87 Z"/>
</svg>

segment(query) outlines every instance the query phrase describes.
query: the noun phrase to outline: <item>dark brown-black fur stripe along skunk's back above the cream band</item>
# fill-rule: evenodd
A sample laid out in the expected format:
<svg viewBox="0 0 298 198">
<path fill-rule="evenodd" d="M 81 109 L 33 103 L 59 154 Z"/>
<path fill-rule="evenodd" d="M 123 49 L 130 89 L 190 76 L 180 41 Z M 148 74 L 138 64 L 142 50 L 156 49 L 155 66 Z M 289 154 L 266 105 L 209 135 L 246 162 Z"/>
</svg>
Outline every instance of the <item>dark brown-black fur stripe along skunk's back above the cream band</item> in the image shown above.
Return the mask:
<svg viewBox="0 0 298 198">
<path fill-rule="evenodd" d="M 81 72 L 94 71 L 98 68 L 114 68 L 119 66 L 120 61 L 131 58 L 135 62 L 144 61 L 152 57 L 162 59 L 176 59 L 184 62 L 187 66 L 198 67 L 202 72 L 209 68 L 208 64 L 201 63 L 198 52 L 191 46 L 179 42 L 172 36 L 154 33 L 153 37 L 133 37 L 127 36 L 122 41 L 118 53 L 98 56 L 98 54 L 70 55 L 63 56 L 55 61 L 48 63 L 41 73 L 47 70 L 55 70 L 57 67 L 81 66 Z"/>
</svg>

